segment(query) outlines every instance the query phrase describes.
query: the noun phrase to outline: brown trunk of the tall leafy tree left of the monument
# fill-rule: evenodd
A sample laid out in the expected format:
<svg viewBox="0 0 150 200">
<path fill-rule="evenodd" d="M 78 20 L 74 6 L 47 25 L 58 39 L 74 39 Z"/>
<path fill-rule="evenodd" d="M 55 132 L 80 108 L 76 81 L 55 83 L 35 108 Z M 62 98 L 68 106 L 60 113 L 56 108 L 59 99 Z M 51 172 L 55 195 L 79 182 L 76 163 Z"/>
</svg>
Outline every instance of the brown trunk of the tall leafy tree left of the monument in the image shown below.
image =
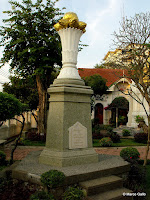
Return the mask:
<svg viewBox="0 0 150 200">
<path fill-rule="evenodd" d="M 39 113 L 38 113 L 38 133 L 46 133 L 46 91 L 41 81 L 40 75 L 36 75 L 36 83 L 39 95 Z"/>
</svg>

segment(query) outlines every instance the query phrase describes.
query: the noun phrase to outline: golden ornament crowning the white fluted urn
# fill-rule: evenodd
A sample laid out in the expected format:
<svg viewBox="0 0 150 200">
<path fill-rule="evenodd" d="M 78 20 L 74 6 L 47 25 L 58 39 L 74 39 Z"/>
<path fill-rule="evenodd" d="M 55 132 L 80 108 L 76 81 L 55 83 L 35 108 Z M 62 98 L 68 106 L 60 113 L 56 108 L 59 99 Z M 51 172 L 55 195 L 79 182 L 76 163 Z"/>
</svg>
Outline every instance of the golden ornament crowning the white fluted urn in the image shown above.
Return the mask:
<svg viewBox="0 0 150 200">
<path fill-rule="evenodd" d="M 86 27 L 85 22 L 81 22 L 78 19 L 78 16 L 74 12 L 67 12 L 62 19 L 59 20 L 57 24 L 54 25 L 54 28 L 56 31 L 59 31 L 63 28 L 77 28 L 83 31 L 83 33 L 86 32 L 85 27 Z"/>
</svg>

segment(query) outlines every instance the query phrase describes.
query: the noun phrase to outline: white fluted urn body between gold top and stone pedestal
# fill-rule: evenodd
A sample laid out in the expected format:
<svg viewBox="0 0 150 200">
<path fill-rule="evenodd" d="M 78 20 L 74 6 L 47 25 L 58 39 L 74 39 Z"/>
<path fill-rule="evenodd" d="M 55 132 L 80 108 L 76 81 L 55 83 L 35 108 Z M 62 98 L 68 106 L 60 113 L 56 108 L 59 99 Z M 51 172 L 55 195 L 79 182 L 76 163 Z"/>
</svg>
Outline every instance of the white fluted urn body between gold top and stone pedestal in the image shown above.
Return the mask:
<svg viewBox="0 0 150 200">
<path fill-rule="evenodd" d="M 58 31 L 62 44 L 62 69 L 57 79 L 81 79 L 76 64 L 78 44 L 83 32 L 77 28 L 66 28 Z"/>
</svg>

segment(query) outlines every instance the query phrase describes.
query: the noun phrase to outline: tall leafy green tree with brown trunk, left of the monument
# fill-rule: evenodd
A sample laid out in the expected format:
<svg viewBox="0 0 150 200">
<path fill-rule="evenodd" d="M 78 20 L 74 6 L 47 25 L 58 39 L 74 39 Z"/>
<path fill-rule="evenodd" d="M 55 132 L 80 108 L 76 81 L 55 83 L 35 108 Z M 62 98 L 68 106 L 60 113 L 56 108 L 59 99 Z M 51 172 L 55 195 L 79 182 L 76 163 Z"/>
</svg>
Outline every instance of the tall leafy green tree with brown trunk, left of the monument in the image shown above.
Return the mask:
<svg viewBox="0 0 150 200">
<path fill-rule="evenodd" d="M 61 16 L 55 3 L 47 0 L 10 1 L 12 9 L 5 11 L 9 18 L 0 27 L 0 43 L 4 46 L 3 66 L 10 64 L 20 76 L 36 77 L 39 95 L 39 133 L 46 128 L 46 94 L 55 64 L 61 65 L 61 43 L 54 24 Z"/>
</svg>

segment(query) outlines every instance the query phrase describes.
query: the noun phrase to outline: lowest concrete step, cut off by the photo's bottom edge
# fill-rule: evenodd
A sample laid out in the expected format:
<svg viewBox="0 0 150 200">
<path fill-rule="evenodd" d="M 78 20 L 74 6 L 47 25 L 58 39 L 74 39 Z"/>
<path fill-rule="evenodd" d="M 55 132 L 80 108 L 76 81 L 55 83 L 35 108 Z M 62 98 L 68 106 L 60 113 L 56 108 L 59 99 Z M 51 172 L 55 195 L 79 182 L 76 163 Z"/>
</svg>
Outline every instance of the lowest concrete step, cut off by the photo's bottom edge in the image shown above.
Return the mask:
<svg viewBox="0 0 150 200">
<path fill-rule="evenodd" d="M 124 193 L 132 193 L 126 188 L 117 188 L 100 194 L 87 197 L 87 200 L 132 200 L 131 196 L 123 196 Z"/>
</svg>

